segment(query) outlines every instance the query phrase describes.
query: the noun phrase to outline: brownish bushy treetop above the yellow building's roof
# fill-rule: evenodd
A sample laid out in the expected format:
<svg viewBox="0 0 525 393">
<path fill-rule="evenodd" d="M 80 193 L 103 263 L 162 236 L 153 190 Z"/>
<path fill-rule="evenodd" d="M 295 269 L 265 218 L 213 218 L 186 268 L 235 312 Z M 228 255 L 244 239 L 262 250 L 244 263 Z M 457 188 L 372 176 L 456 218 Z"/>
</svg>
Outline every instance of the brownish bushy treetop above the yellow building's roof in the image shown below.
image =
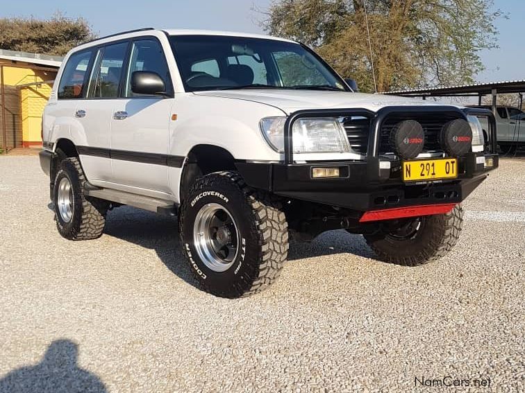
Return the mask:
<svg viewBox="0 0 525 393">
<path fill-rule="evenodd" d="M 69 19 L 56 14 L 51 19 L 0 19 L 0 49 L 65 55 L 69 49 L 92 40 L 95 35 L 83 18 Z"/>
</svg>

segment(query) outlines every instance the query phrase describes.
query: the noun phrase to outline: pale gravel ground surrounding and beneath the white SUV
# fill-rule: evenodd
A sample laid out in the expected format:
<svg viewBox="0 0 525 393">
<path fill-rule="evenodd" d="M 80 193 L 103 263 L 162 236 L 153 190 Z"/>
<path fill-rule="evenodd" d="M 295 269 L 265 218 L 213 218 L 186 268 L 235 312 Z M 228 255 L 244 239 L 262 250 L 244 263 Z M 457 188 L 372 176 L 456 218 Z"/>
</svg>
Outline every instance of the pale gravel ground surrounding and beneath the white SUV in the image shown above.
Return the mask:
<svg viewBox="0 0 525 393">
<path fill-rule="evenodd" d="M 524 392 L 524 179 L 503 160 L 439 263 L 381 263 L 331 232 L 226 300 L 196 287 L 176 220 L 125 207 L 65 241 L 38 157 L 0 157 L 0 391 Z M 446 376 L 470 385 L 415 380 Z"/>
</svg>

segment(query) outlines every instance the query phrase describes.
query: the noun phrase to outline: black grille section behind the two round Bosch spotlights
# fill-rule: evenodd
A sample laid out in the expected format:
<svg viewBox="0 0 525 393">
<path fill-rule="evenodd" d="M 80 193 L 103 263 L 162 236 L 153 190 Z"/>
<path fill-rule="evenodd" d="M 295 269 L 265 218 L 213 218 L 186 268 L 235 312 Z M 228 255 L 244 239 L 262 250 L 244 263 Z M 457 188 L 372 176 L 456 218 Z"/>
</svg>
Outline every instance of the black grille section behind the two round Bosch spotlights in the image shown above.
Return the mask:
<svg viewBox="0 0 525 393">
<path fill-rule="evenodd" d="M 429 151 L 443 151 L 440 146 L 440 132 L 445 123 L 451 120 L 458 119 L 459 115 L 453 114 L 417 114 L 417 116 L 399 116 L 391 115 L 383 122 L 381 127 L 381 144 L 379 147 L 380 154 L 394 154 L 392 147 L 390 147 L 390 132 L 394 128 L 394 125 L 403 120 L 415 120 L 419 121 L 423 126 L 425 134 L 425 144 L 423 150 Z"/>
</svg>

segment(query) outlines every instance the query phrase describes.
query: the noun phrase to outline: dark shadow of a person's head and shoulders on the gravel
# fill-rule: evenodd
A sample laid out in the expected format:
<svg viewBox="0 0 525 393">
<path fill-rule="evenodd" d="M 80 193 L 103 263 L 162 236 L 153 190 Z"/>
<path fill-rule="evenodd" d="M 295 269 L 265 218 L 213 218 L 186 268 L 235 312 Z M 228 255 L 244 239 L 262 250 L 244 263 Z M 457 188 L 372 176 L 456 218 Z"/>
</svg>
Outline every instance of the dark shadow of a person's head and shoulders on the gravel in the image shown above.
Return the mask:
<svg viewBox="0 0 525 393">
<path fill-rule="evenodd" d="M 15 369 L 0 380 L 0 392 L 106 393 L 100 378 L 78 367 L 78 344 L 56 340 L 38 365 Z"/>
</svg>

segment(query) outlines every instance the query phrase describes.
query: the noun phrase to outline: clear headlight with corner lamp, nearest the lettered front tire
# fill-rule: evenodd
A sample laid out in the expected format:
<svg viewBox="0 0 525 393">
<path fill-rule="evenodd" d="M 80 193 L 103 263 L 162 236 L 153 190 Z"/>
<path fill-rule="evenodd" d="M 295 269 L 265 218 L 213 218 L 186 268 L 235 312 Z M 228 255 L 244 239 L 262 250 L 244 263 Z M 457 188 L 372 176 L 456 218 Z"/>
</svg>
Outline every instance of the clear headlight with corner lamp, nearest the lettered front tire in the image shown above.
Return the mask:
<svg viewBox="0 0 525 393">
<path fill-rule="evenodd" d="M 284 117 L 260 121 L 260 128 L 272 148 L 284 151 Z M 335 117 L 303 118 L 292 127 L 294 153 L 350 152 L 347 132 Z"/>
</svg>

